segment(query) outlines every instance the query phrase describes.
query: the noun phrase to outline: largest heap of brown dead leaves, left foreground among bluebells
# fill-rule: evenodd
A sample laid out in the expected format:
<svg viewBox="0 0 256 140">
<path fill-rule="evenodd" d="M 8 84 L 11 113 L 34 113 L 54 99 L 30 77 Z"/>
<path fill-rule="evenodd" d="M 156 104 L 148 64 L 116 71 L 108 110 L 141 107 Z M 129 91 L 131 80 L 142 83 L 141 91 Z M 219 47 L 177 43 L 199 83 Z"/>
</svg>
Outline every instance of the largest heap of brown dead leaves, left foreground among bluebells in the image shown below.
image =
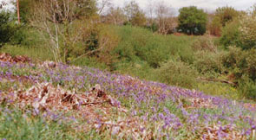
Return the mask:
<svg viewBox="0 0 256 140">
<path fill-rule="evenodd" d="M 128 116 L 128 111 L 120 102 L 102 91 L 99 85 L 89 92 L 78 93 L 75 90 L 65 90 L 61 86 L 55 87 L 50 83 L 37 83 L 27 91 L 2 96 L 0 103 L 8 99 L 11 100 L 10 104 L 16 103 L 15 105 L 22 109 L 32 106 L 37 111 L 75 112 L 78 118 L 87 120 L 99 132 L 108 130 L 111 135 L 118 137 L 127 137 L 127 134 L 130 134 L 135 138 L 150 138 L 144 127 L 146 122 Z M 121 113 L 125 117 L 121 117 Z M 77 125 L 88 127 L 88 124 Z"/>
</svg>

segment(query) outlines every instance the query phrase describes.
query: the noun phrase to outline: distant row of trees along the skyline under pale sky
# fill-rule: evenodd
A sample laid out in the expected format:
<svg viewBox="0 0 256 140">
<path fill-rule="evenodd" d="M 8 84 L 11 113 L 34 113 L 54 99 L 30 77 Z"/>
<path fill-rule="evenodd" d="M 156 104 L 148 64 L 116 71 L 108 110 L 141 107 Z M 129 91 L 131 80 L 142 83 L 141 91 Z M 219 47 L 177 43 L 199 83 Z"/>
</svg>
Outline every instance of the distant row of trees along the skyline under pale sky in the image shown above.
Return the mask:
<svg viewBox="0 0 256 140">
<path fill-rule="evenodd" d="M 179 10 L 179 16 L 174 16 L 174 9 L 164 1 L 149 2 L 145 10 L 142 10 L 134 0 L 125 3 L 124 7 L 116 7 L 111 3 L 111 0 L 50 0 L 45 2 L 20 0 L 19 5 L 23 24 L 34 25 L 37 26 L 36 28 L 39 26 L 38 22 L 56 22 L 57 24 L 67 25 L 77 20 L 90 20 L 93 24 L 101 22 L 114 25 L 143 27 L 162 35 L 173 33 L 204 35 L 208 33 L 210 35 L 221 36 L 222 32 L 227 32 L 228 27 L 226 25 L 232 24 L 233 21 L 237 23 L 237 26 L 238 22 L 242 22 L 240 19 L 247 20 L 245 22 L 252 22 L 246 18 L 248 16 L 246 11 L 238 11 L 228 6 L 218 8 L 213 13 L 207 13 L 195 6 L 184 7 Z M 3 7 L 4 3 L 1 4 L 1 9 Z M 1 15 L 5 15 L 2 17 L 2 20 L 9 16 L 9 23 L 16 19 L 14 15 L 10 17 L 10 13 L 8 12 L 2 11 Z M 41 16 L 41 19 L 38 19 L 39 16 Z M 53 17 L 56 19 L 53 19 Z M 3 24 L 7 23 L 3 23 L 2 21 Z M 240 25 L 244 26 L 243 23 L 240 23 Z M 241 28 L 245 29 L 246 27 Z M 47 30 L 45 27 L 40 27 L 39 29 Z M 10 38 L 10 35 L 6 35 L 2 42 L 9 41 Z M 230 44 L 228 41 L 222 42 L 225 46 Z"/>
</svg>

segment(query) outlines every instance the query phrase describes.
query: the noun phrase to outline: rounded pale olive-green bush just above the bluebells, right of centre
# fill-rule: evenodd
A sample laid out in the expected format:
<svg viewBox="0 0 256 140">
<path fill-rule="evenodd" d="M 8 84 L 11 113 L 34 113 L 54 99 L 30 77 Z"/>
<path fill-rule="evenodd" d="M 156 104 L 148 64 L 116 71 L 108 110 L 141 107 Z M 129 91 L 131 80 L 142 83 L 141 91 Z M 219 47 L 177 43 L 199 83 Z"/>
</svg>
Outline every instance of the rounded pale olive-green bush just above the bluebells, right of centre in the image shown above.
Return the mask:
<svg viewBox="0 0 256 140">
<path fill-rule="evenodd" d="M 197 78 L 197 72 L 181 60 L 167 61 L 155 75 L 163 83 L 187 88 L 193 88 Z"/>
</svg>

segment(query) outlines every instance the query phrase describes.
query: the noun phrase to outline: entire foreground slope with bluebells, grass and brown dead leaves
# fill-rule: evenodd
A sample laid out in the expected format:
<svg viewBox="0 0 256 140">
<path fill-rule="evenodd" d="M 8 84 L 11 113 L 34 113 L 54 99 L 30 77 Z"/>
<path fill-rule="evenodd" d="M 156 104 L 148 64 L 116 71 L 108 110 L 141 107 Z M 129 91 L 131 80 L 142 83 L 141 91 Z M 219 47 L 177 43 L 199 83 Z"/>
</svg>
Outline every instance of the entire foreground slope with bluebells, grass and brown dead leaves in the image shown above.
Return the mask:
<svg viewBox="0 0 256 140">
<path fill-rule="evenodd" d="M 0 70 L 1 138 L 255 138 L 253 104 L 9 54 Z"/>
</svg>

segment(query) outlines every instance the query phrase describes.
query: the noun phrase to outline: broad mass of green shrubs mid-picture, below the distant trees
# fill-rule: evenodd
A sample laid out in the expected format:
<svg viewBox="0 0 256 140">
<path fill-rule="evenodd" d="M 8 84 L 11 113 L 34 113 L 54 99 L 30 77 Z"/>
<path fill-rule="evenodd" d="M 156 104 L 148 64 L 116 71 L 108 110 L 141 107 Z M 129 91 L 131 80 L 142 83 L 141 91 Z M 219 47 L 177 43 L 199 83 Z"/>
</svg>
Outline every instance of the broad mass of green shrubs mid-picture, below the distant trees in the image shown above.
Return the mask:
<svg viewBox="0 0 256 140">
<path fill-rule="evenodd" d="M 150 67 L 160 67 L 171 56 L 182 55 L 182 60 L 193 61 L 190 44 L 195 37 L 154 35 L 148 29 L 130 26 L 115 27 L 120 41 L 115 48 L 118 60 L 146 61 Z"/>
</svg>

